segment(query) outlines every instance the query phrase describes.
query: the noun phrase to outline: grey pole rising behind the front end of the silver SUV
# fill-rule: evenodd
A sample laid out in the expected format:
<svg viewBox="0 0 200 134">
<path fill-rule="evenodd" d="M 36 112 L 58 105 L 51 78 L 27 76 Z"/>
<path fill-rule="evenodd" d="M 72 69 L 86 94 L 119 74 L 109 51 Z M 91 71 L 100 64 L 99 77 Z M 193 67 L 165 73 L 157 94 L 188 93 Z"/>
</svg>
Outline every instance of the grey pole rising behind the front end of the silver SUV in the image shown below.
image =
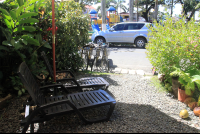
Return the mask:
<svg viewBox="0 0 200 134">
<path fill-rule="evenodd" d="M 102 30 L 106 30 L 106 0 L 101 1 Z"/>
</svg>

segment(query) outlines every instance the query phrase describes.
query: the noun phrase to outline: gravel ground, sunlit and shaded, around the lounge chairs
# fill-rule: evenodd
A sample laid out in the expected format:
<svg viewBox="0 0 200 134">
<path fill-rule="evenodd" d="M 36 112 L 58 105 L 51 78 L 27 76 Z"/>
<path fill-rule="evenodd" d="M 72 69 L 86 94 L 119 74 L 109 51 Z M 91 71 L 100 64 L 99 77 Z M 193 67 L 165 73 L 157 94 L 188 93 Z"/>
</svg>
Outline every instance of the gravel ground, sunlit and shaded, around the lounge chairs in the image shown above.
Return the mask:
<svg viewBox="0 0 200 134">
<path fill-rule="evenodd" d="M 102 76 L 109 83 L 108 90 L 117 101 L 110 121 L 85 125 L 75 113 L 57 116 L 40 126 L 40 133 L 198 133 L 199 117 L 185 104 L 151 86 L 144 76 L 112 74 Z M 19 132 L 18 109 L 25 97 L 12 99 L 1 113 L 0 133 Z M 181 119 L 179 112 L 189 111 L 188 119 Z M 98 111 L 99 109 L 97 109 Z M 106 108 L 104 108 L 106 110 Z M 103 112 L 102 110 L 99 110 Z M 87 111 L 88 112 L 88 111 Z M 86 112 L 86 113 L 87 113 Z M 95 113 L 91 112 L 90 115 Z M 102 114 L 102 113 L 101 113 Z"/>
</svg>

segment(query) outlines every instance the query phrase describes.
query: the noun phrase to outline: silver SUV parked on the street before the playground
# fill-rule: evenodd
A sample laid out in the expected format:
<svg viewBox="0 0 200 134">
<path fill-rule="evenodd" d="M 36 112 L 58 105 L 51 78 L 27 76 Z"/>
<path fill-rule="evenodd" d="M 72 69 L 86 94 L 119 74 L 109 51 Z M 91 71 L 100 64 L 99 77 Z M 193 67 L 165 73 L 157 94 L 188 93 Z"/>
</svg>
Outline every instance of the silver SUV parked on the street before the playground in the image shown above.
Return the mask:
<svg viewBox="0 0 200 134">
<path fill-rule="evenodd" d="M 94 43 L 134 43 L 136 47 L 145 48 L 148 42 L 147 22 L 122 22 L 114 25 L 109 30 L 98 31 L 92 34 Z"/>
</svg>

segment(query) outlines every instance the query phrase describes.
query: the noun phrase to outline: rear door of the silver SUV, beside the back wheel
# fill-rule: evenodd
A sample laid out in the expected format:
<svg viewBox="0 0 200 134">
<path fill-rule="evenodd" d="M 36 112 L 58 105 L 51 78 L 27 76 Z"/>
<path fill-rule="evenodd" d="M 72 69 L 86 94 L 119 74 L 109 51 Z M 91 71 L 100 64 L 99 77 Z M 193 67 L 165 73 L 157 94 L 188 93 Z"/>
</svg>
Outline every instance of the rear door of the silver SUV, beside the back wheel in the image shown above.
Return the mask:
<svg viewBox="0 0 200 134">
<path fill-rule="evenodd" d="M 144 24 L 143 24 L 144 26 Z M 124 26 L 123 42 L 134 43 L 134 38 L 140 34 L 142 25 L 140 23 L 128 23 Z"/>
</svg>

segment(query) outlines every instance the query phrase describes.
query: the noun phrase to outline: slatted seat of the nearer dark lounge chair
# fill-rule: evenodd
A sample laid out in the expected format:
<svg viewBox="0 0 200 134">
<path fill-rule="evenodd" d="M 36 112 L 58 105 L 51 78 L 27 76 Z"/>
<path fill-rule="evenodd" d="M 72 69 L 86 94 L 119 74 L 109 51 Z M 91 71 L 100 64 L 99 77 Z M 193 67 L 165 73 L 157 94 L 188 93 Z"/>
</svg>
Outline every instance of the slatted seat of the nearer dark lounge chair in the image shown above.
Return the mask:
<svg viewBox="0 0 200 134">
<path fill-rule="evenodd" d="M 46 103 L 55 102 L 63 99 L 69 99 L 77 109 L 89 109 L 91 107 L 97 107 L 106 103 L 116 103 L 104 90 L 94 90 L 89 92 L 79 92 L 69 95 L 60 95 L 46 98 Z M 47 115 L 61 114 L 62 112 L 72 111 L 73 109 L 68 104 L 57 105 L 45 109 Z"/>
</svg>

